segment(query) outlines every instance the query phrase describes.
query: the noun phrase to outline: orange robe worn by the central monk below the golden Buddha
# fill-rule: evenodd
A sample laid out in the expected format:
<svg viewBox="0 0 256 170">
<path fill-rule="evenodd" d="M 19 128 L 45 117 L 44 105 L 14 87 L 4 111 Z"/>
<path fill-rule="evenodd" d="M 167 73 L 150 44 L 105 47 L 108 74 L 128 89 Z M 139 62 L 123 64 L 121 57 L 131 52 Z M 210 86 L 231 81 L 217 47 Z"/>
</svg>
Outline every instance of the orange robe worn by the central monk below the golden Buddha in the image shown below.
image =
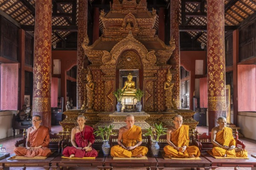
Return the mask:
<svg viewBox="0 0 256 170">
<path fill-rule="evenodd" d="M 139 126 L 133 125 L 131 129 L 122 134 L 122 143 L 125 147 L 134 146 L 140 141 L 142 141 L 142 137 L 141 128 Z M 147 153 L 148 148 L 144 146 L 138 146 L 131 151 L 122 148 L 120 145 L 111 147 L 111 156 L 120 158 L 131 158 L 132 156 L 136 155 L 144 156 Z"/>
</svg>

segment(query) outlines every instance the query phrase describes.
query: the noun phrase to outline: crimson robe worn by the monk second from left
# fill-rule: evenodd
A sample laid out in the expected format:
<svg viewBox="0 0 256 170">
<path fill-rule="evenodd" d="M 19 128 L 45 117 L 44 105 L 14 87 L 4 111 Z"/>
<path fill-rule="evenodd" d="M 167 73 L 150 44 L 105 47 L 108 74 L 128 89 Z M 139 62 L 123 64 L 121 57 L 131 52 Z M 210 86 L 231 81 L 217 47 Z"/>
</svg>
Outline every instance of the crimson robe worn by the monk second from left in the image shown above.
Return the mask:
<svg viewBox="0 0 256 170">
<path fill-rule="evenodd" d="M 76 133 L 76 136 L 75 136 L 77 147 L 84 148 L 84 147 L 87 147 L 89 142 L 91 142 L 91 144 L 94 143 L 95 138 L 93 136 L 93 128 L 92 127 L 85 125 L 84 134 L 82 134 L 84 136 L 84 139 L 82 139 L 81 133 L 80 132 Z M 70 147 L 70 146 L 65 147 L 62 154 L 64 156 L 67 156 L 67 157 L 69 157 L 71 154 L 74 154 L 75 157 L 77 157 L 77 158 L 98 156 L 98 152 L 93 148 L 92 148 L 92 151 L 85 152 L 85 150 L 76 149 L 73 146 L 72 147 Z"/>
</svg>

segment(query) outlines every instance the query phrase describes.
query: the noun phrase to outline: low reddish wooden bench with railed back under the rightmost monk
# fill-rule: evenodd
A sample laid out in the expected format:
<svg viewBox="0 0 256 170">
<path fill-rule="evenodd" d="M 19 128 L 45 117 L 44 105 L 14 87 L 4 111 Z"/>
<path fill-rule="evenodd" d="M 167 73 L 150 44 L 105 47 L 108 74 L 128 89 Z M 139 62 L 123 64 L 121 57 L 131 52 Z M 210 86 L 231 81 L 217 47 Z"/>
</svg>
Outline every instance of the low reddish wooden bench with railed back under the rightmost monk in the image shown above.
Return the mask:
<svg viewBox="0 0 256 170">
<path fill-rule="evenodd" d="M 256 159 L 248 155 L 249 159 L 215 159 L 206 150 L 212 149 L 213 144 L 211 143 L 211 132 L 209 135 L 203 133 L 198 135 L 196 132 L 196 139 L 198 141 L 199 148 L 201 150 L 201 155 L 204 156 L 208 161 L 211 162 L 212 170 L 215 170 L 218 167 L 234 167 L 235 170 L 238 170 L 238 167 L 256 167 Z M 236 130 L 236 147 L 245 149 L 245 144 L 239 140 L 238 132 Z"/>
</svg>

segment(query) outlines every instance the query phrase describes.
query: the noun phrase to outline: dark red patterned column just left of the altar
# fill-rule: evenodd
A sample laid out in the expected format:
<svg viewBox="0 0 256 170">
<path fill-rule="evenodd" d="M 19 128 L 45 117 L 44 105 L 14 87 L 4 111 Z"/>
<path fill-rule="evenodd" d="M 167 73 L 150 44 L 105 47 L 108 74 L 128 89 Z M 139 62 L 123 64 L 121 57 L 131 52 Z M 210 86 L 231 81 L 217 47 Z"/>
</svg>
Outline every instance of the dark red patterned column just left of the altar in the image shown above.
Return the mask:
<svg viewBox="0 0 256 170">
<path fill-rule="evenodd" d="M 78 2 L 78 35 L 77 35 L 77 108 L 81 108 L 84 102 L 84 81 L 86 74 L 83 73 L 84 49 L 82 43 L 87 36 L 87 5 L 88 0 Z M 66 97 L 66 96 L 64 96 Z"/>
</svg>

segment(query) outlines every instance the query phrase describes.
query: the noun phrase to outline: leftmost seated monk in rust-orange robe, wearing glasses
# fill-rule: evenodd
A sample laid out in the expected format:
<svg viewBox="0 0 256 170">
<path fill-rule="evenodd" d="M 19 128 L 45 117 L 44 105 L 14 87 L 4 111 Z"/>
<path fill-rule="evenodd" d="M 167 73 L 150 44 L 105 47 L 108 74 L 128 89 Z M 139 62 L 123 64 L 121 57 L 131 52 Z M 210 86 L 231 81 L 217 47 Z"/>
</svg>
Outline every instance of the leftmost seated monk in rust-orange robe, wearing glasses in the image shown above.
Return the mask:
<svg viewBox="0 0 256 170">
<path fill-rule="evenodd" d="M 49 156 L 49 129 L 41 126 L 41 116 L 32 117 L 33 126 L 28 128 L 26 147 L 15 147 L 14 152 L 17 156 L 35 157 Z"/>
</svg>

